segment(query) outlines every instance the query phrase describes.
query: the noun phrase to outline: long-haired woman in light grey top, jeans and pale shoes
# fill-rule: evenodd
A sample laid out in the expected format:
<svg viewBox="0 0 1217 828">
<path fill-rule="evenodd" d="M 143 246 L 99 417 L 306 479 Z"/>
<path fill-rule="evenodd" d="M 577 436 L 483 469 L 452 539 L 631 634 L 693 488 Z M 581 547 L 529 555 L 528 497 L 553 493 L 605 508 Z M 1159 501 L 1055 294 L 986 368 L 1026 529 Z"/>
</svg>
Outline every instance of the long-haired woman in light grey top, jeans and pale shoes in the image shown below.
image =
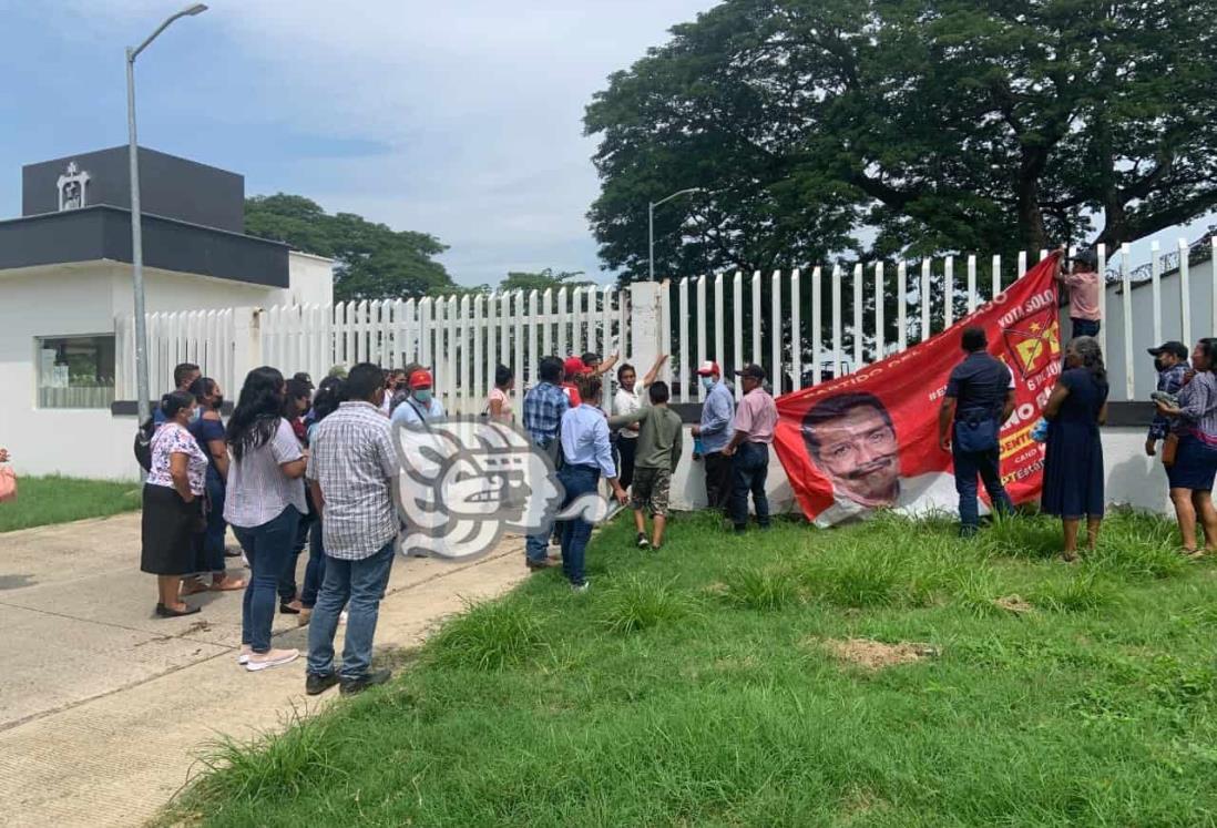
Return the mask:
<svg viewBox="0 0 1217 828">
<path fill-rule="evenodd" d="M 299 650 L 270 645 L 276 587 L 307 510 L 302 480 L 307 460 L 291 423 L 284 419 L 286 393 L 277 370 L 253 369 L 245 377 L 228 427 L 232 465 L 224 519 L 252 571 L 241 611 L 237 659 L 249 671 L 287 664 L 299 655 Z"/>
</svg>

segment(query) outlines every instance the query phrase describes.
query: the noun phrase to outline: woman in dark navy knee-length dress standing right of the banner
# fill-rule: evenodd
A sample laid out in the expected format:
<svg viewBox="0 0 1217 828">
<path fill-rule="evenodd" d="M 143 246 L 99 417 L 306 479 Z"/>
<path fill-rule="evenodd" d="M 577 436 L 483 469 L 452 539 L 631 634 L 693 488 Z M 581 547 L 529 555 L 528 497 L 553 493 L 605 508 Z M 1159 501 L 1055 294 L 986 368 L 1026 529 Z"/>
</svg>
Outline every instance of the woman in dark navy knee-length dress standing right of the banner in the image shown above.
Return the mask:
<svg viewBox="0 0 1217 828">
<path fill-rule="evenodd" d="M 1065 348 L 1065 370 L 1044 405 L 1044 513 L 1059 515 L 1065 560 L 1077 560 L 1077 533 L 1086 518 L 1087 547 L 1094 552 L 1103 522 L 1103 442 L 1107 420 L 1107 370 L 1099 342 L 1078 336 Z"/>
</svg>

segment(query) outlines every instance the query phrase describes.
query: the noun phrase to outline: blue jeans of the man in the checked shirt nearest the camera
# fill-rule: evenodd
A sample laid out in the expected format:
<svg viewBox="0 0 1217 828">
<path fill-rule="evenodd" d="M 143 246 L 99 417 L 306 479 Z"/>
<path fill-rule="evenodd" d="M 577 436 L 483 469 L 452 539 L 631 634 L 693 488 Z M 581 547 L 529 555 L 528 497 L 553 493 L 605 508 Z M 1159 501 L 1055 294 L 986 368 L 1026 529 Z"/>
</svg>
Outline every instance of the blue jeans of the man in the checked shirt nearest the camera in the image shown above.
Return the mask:
<svg viewBox="0 0 1217 828">
<path fill-rule="evenodd" d="M 342 648 L 342 678 L 360 678 L 372 665 L 372 638 L 380 603 L 393 569 L 393 542 L 361 560 L 330 558 L 325 582 L 308 625 L 308 671 L 315 676 L 333 672 L 333 636 L 338 615 L 347 606 L 347 640 Z M 349 602 L 349 605 L 348 605 Z"/>
</svg>

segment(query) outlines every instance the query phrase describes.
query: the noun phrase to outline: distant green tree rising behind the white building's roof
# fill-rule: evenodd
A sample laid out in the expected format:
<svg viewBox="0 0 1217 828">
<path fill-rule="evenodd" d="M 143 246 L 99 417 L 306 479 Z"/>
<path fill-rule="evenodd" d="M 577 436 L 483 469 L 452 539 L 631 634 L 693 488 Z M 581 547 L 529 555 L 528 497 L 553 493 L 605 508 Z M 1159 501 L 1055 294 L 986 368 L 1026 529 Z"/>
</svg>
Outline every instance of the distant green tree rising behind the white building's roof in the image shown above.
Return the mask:
<svg viewBox="0 0 1217 828">
<path fill-rule="evenodd" d="M 385 300 L 455 292 L 434 256 L 448 247 L 432 235 L 393 230 L 353 213 L 327 214 L 303 196 L 254 196 L 245 202 L 245 228 L 335 259 L 333 298 Z"/>
</svg>

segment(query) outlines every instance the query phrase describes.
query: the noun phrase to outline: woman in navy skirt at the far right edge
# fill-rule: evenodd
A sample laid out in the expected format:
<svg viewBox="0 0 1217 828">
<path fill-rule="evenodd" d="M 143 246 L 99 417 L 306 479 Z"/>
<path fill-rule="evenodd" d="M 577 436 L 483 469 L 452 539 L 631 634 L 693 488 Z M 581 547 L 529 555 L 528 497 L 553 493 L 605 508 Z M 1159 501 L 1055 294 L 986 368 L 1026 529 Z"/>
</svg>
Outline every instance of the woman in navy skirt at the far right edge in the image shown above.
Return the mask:
<svg viewBox="0 0 1217 828">
<path fill-rule="evenodd" d="M 1179 404 L 1157 403 L 1157 410 L 1174 418 L 1179 438 L 1174 463 L 1166 470 L 1171 502 L 1183 536 L 1183 552 L 1190 556 L 1217 552 L 1217 509 L 1213 508 L 1213 477 L 1217 475 L 1217 339 L 1205 337 L 1191 352 L 1193 370 L 1184 375 Z M 1205 532 L 1205 546 L 1196 542 L 1196 518 Z"/>
</svg>

